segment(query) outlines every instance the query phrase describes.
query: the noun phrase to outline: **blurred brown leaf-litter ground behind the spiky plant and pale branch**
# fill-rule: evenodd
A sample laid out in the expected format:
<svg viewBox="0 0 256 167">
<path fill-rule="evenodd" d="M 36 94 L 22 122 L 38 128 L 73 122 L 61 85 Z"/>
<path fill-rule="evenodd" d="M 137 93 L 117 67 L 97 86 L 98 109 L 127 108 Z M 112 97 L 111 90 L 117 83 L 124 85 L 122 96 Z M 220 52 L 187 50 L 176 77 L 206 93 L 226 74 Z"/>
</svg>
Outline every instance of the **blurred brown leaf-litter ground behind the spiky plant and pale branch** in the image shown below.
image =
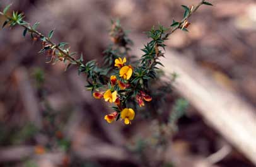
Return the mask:
<svg viewBox="0 0 256 167">
<path fill-rule="evenodd" d="M 100 63 L 110 43 L 111 19 L 119 18 L 131 40 L 138 40 L 153 25 L 181 20 L 181 4 L 198 2 L 1 0 L 0 9 L 13 3 L 11 9 L 24 12 L 26 21 L 40 21 L 40 32 L 55 28 L 54 42 L 68 42 L 85 60 Z M 211 3 L 213 7 L 202 6 L 189 19 L 189 33 L 173 33 L 167 48 L 255 107 L 256 3 Z M 142 48 L 143 42 L 134 47 Z M 130 126 L 107 124 L 103 116 L 110 109 L 86 91 L 84 76 L 75 67 L 64 72 L 62 63 L 45 64 L 49 57 L 38 54 L 40 49 L 40 42 L 22 37 L 20 27 L 0 32 L 0 166 L 253 166 L 175 89 L 159 113 L 180 114 L 175 125 L 160 125 L 143 115 Z M 216 152 L 220 154 L 214 161 Z"/>
</svg>

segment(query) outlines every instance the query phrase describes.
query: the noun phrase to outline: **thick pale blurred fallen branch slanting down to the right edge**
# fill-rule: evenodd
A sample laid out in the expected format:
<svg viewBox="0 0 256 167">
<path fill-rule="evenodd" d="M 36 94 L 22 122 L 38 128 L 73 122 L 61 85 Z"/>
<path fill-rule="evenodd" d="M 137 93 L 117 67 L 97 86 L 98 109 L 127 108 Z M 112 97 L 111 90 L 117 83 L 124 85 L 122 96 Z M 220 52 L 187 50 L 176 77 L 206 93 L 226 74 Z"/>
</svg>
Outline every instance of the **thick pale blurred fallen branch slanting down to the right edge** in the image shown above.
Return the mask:
<svg viewBox="0 0 256 167">
<path fill-rule="evenodd" d="M 143 41 L 139 36 L 135 43 Z M 139 44 L 134 48 L 140 48 Z M 141 50 L 135 51 L 141 55 Z M 161 62 L 165 66 L 167 81 L 171 73 L 178 78 L 173 84 L 180 95 L 197 108 L 206 123 L 218 130 L 233 146 L 256 164 L 256 114 L 255 107 L 241 100 L 228 89 L 219 86 L 204 70 L 192 60 L 166 49 Z"/>
</svg>

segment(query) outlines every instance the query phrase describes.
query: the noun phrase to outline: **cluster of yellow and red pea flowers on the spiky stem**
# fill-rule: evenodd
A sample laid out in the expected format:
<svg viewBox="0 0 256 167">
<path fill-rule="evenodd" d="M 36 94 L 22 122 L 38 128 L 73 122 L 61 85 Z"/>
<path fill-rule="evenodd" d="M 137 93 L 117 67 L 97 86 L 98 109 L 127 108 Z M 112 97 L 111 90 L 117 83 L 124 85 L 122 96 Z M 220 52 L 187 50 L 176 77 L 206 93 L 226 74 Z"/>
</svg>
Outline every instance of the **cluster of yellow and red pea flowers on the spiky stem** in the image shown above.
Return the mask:
<svg viewBox="0 0 256 167">
<path fill-rule="evenodd" d="M 117 76 L 110 76 L 108 89 L 106 91 L 95 91 L 93 93 L 93 96 L 96 99 L 104 98 L 105 101 L 116 105 L 116 108 L 114 108 L 116 112 L 105 115 L 105 120 L 108 123 L 112 123 L 113 120 L 118 120 L 120 118 L 120 120 L 124 120 L 124 124 L 131 124 L 131 120 L 133 120 L 135 116 L 135 112 L 132 108 L 126 108 L 124 100 L 124 96 L 126 96 L 127 93 L 130 93 L 130 91 L 137 91 L 136 89 L 132 89 L 134 84 L 129 82 L 129 79 L 132 78 L 133 68 L 131 65 L 126 65 L 126 62 L 126 57 L 124 57 L 124 59 L 121 57 L 115 59 L 114 66 L 119 70 Z M 145 101 L 152 100 L 151 96 L 146 95 L 144 91 L 137 91 L 136 100 L 140 107 L 144 106 L 143 99 Z"/>
</svg>

